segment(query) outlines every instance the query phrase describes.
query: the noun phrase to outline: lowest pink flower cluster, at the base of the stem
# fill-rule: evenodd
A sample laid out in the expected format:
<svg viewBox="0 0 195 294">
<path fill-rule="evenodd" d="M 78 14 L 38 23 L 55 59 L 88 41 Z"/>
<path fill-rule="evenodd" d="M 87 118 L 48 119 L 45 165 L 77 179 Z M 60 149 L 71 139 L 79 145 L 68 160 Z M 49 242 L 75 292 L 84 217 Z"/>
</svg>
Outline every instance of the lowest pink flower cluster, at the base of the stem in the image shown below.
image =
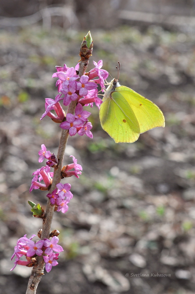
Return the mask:
<svg viewBox="0 0 195 294">
<path fill-rule="evenodd" d="M 25 266 L 34 266 L 36 263 L 36 255 L 43 255 L 43 259 L 46 263 L 46 271 L 50 272 L 52 266 L 58 264 L 56 261 L 58 259 L 59 252 L 63 251 L 63 248 L 58 245 L 58 237 L 54 236 L 51 241 L 47 238 L 39 240 L 37 242 L 32 241 L 31 239 L 36 235 L 32 235 L 29 239 L 24 235 L 17 241 L 17 244 L 14 248 L 14 254 L 11 257 L 11 260 L 16 256 L 14 261 L 13 270 L 17 264 Z M 53 251 L 57 252 L 54 253 Z M 26 260 L 21 260 L 21 257 L 26 257 Z"/>
</svg>

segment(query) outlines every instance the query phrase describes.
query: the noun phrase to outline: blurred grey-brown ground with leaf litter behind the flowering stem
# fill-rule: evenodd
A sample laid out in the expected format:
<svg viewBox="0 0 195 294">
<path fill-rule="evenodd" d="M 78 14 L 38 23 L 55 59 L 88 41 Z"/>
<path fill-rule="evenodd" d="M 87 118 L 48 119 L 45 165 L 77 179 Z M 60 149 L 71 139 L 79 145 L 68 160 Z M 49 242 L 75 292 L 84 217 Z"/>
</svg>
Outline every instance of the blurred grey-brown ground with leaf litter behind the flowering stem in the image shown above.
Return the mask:
<svg viewBox="0 0 195 294">
<path fill-rule="evenodd" d="M 0 2 L 0 293 L 26 293 L 31 268 L 10 260 L 17 240 L 37 234 L 27 201 L 38 150 L 58 150 L 59 126 L 46 117 L 57 95 L 55 66 L 75 66 L 91 31 L 93 60 L 163 111 L 165 128 L 115 144 L 92 112 L 93 139 L 69 138 L 83 166 L 68 178 L 73 199 L 55 213 L 59 265 L 42 294 L 193 294 L 195 288 L 195 3 L 194 0 Z M 111 78 L 107 79 L 108 81 Z M 65 183 L 66 181 L 63 181 Z"/>
</svg>

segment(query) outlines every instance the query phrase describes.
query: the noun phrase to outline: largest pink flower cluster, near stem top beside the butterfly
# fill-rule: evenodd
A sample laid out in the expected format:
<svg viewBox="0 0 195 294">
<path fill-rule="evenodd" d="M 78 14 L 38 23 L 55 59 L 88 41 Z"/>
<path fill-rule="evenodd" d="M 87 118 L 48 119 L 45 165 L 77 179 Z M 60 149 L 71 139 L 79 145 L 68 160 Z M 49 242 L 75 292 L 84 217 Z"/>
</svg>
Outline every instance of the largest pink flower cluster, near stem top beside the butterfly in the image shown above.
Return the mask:
<svg viewBox="0 0 195 294">
<path fill-rule="evenodd" d="M 100 107 L 102 100 L 97 96 L 97 86 L 99 84 L 103 92 L 105 89 L 104 81 L 108 77 L 108 72 L 101 69 L 102 60 L 93 63 L 95 67 L 81 77 L 77 74 L 79 64 L 75 68 L 69 68 L 65 64 L 63 67 L 56 66 L 57 72 L 52 76 L 58 78 L 56 86 L 60 94 L 56 96 L 55 100 L 46 98 L 46 111 L 41 119 L 48 115 L 53 121 L 60 123 L 60 128 L 69 130 L 70 136 L 78 133 L 80 136 L 86 134 L 89 138 L 93 138 L 90 131 L 92 124 L 88 121 L 91 113 L 83 110 L 83 106 L 90 105 L 93 107 L 93 103 L 95 103 L 98 108 Z M 77 101 L 75 115 L 68 113 L 65 117 L 59 103 L 60 100 L 63 100 L 65 106 L 68 106 L 71 101 Z M 51 110 L 54 110 L 56 115 Z"/>
</svg>

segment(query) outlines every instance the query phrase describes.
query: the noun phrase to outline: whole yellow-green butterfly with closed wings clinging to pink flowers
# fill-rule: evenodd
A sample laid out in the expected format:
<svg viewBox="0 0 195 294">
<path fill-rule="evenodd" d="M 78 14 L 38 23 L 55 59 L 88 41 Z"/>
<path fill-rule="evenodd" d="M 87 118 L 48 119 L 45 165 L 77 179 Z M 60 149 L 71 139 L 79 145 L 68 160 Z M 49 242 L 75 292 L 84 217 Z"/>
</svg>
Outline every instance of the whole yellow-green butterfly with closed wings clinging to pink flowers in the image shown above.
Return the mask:
<svg viewBox="0 0 195 294">
<path fill-rule="evenodd" d="M 120 86 L 116 78 L 110 82 L 102 101 L 100 123 L 116 143 L 133 143 L 141 133 L 165 126 L 164 115 L 156 104 Z"/>
</svg>

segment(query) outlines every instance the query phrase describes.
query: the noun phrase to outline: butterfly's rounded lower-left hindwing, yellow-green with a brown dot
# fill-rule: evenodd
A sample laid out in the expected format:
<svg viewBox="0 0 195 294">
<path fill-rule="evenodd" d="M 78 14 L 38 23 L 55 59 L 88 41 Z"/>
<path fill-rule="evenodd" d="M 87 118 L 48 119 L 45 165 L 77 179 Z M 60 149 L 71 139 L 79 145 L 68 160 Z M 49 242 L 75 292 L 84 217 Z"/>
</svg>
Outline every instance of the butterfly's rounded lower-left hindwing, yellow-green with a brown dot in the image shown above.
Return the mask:
<svg viewBox="0 0 195 294">
<path fill-rule="evenodd" d="M 100 123 L 116 143 L 132 143 L 139 138 L 137 118 L 128 101 L 118 91 L 112 92 L 100 105 Z"/>
</svg>

